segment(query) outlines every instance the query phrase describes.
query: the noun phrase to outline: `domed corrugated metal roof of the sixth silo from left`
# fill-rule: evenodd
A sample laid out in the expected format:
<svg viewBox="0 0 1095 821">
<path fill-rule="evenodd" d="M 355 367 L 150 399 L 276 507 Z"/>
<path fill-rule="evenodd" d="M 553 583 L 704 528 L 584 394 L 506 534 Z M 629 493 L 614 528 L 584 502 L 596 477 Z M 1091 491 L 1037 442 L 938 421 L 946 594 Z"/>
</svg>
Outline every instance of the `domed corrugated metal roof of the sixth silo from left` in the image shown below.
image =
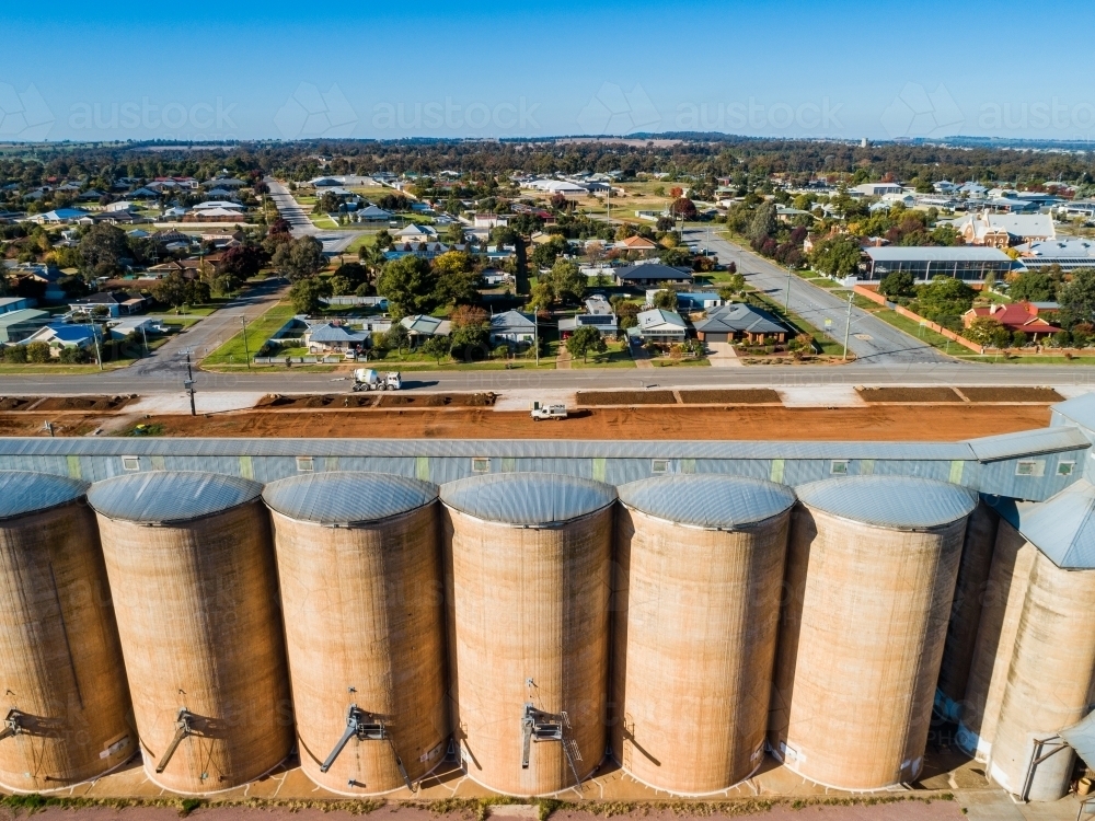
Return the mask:
<svg viewBox="0 0 1095 821">
<path fill-rule="evenodd" d="M 846 476 L 800 485 L 798 498 L 842 519 L 894 530 L 935 528 L 968 516 L 977 495 L 917 476 Z"/>
</svg>

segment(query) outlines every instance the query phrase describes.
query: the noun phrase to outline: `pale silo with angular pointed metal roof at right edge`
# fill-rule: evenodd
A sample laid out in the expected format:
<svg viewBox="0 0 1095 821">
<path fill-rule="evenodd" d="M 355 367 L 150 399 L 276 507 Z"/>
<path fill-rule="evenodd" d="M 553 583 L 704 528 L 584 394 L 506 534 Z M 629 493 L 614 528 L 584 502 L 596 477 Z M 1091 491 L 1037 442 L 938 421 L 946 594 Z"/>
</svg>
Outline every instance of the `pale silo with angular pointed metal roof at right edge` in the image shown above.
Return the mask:
<svg viewBox="0 0 1095 821">
<path fill-rule="evenodd" d="M 1018 523 L 1034 555 L 988 772 L 1024 800 L 1054 801 L 1074 765 L 1058 733 L 1095 698 L 1095 488 L 1080 481 Z"/>
</svg>

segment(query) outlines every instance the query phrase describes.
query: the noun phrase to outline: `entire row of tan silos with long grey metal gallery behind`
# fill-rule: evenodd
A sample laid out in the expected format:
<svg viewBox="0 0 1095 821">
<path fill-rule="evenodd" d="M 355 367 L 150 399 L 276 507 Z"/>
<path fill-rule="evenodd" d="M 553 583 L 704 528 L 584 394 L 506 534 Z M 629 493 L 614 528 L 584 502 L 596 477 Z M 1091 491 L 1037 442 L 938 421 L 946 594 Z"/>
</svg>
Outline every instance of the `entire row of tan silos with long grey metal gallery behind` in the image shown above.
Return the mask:
<svg viewBox="0 0 1095 821">
<path fill-rule="evenodd" d="M 518 796 L 768 754 L 869 791 L 934 708 L 1053 800 L 1095 765 L 1093 443 L 1095 394 L 946 443 L 0 439 L 0 784 L 139 752 L 204 795 L 296 738 L 355 796 L 445 756 Z"/>
</svg>

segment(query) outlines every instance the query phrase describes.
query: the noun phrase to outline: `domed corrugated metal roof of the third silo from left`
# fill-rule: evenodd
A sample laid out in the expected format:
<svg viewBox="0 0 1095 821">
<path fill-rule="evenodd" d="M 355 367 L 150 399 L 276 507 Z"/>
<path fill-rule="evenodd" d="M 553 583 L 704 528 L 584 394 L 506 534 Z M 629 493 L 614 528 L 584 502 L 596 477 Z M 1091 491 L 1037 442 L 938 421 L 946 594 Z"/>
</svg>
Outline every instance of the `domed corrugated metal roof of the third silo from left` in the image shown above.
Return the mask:
<svg viewBox="0 0 1095 821">
<path fill-rule="evenodd" d="M 316 524 L 361 524 L 429 505 L 437 487 L 385 473 L 302 473 L 272 482 L 263 499 L 290 519 Z"/>
</svg>

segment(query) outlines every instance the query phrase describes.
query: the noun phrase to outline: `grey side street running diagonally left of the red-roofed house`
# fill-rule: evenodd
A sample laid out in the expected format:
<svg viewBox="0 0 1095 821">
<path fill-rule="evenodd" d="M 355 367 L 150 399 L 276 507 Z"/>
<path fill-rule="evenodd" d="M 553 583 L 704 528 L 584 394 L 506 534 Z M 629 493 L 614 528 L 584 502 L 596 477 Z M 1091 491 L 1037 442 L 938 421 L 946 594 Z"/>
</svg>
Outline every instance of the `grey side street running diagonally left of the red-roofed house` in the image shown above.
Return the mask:
<svg viewBox="0 0 1095 821">
<path fill-rule="evenodd" d="M 825 328 L 825 321 L 831 320 L 830 335 L 838 342 L 844 339 L 848 324 L 848 297 L 832 293 L 810 285 L 803 279 L 788 276 L 784 268 L 717 236 L 714 231 L 689 229 L 684 232 L 689 244 L 708 247 L 718 254 L 724 265 L 735 263 L 738 273 L 754 288 L 763 291 L 780 304 L 786 303 L 787 287 L 791 287 L 791 310 L 818 329 Z M 852 307 L 852 327 L 848 347 L 863 362 L 940 363 L 952 362 L 931 345 L 903 334 L 858 308 Z"/>
</svg>

